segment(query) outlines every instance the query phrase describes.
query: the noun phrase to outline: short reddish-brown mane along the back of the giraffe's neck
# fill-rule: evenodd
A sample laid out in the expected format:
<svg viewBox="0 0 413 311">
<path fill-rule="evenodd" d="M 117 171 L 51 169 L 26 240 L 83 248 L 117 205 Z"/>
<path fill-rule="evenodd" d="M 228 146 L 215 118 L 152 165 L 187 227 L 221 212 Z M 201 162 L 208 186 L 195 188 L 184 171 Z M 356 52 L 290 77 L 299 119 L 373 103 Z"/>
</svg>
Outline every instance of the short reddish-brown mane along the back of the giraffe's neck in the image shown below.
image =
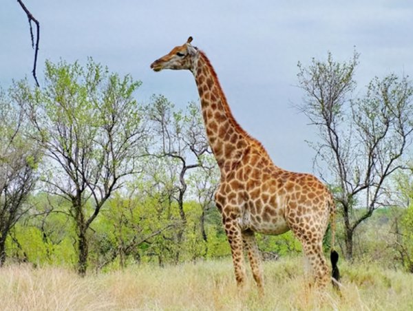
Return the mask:
<svg viewBox="0 0 413 311">
<path fill-rule="evenodd" d="M 229 122 L 231 122 L 233 124 L 233 126 L 235 127 L 235 129 L 237 129 L 237 131 L 240 131 L 240 133 L 242 133 L 242 135 L 245 138 L 247 138 L 250 142 L 252 142 L 255 145 L 255 147 L 257 147 L 257 149 L 260 151 L 260 153 L 263 156 L 266 156 L 266 158 L 271 160 L 270 156 L 268 155 L 268 152 L 266 151 L 265 147 L 262 145 L 262 142 L 260 142 L 256 138 L 253 138 L 253 136 L 251 136 L 247 131 L 245 131 L 241 127 L 241 125 L 237 122 L 237 120 L 235 120 L 235 118 L 232 114 L 231 108 L 228 105 L 228 101 L 226 100 L 226 96 L 224 94 L 224 91 L 222 90 L 220 79 L 218 78 L 218 75 L 215 72 L 215 69 L 213 68 L 213 65 L 211 65 L 211 61 L 209 61 L 209 58 L 207 57 L 207 54 L 205 54 L 204 51 L 199 50 L 199 53 L 200 53 L 201 57 L 204 59 L 204 62 L 207 64 L 207 66 L 211 70 L 211 74 L 212 74 L 213 78 L 215 78 L 216 85 L 218 86 L 218 94 L 219 94 L 220 98 L 222 98 L 222 100 L 224 100 L 225 105 L 223 105 L 223 106 L 224 106 L 224 109 L 225 109 L 226 116 L 228 116 L 228 118 L 229 118 Z"/>
</svg>

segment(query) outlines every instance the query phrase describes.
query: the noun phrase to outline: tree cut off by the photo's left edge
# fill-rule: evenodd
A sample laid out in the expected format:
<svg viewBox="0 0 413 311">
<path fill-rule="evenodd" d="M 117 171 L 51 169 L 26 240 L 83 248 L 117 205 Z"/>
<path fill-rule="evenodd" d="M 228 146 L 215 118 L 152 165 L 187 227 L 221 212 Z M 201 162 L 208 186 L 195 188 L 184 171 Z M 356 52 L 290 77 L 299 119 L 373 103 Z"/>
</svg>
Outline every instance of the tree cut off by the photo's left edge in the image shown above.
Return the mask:
<svg viewBox="0 0 413 311">
<path fill-rule="evenodd" d="M 0 266 L 6 238 L 30 208 L 25 204 L 38 178 L 41 150 L 28 138 L 30 127 L 21 109 L 0 89 Z"/>
</svg>

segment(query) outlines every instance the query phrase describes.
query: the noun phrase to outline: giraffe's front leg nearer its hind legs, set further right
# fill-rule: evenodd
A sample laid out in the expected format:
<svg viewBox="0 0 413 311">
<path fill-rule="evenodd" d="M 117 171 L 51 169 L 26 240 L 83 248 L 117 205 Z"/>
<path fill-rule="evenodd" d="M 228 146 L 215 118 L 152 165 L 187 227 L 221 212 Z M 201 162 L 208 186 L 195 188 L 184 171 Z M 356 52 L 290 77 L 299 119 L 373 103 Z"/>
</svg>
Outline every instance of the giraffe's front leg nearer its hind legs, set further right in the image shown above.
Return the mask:
<svg viewBox="0 0 413 311">
<path fill-rule="evenodd" d="M 253 271 L 255 282 L 257 283 L 258 292 L 260 295 L 263 295 L 264 279 L 262 277 L 261 254 L 260 250 L 258 250 L 255 234 L 251 230 L 244 231 L 242 233 L 242 239 L 244 240 L 244 245 L 248 251 L 248 259 L 251 264 L 251 270 Z"/>
</svg>

